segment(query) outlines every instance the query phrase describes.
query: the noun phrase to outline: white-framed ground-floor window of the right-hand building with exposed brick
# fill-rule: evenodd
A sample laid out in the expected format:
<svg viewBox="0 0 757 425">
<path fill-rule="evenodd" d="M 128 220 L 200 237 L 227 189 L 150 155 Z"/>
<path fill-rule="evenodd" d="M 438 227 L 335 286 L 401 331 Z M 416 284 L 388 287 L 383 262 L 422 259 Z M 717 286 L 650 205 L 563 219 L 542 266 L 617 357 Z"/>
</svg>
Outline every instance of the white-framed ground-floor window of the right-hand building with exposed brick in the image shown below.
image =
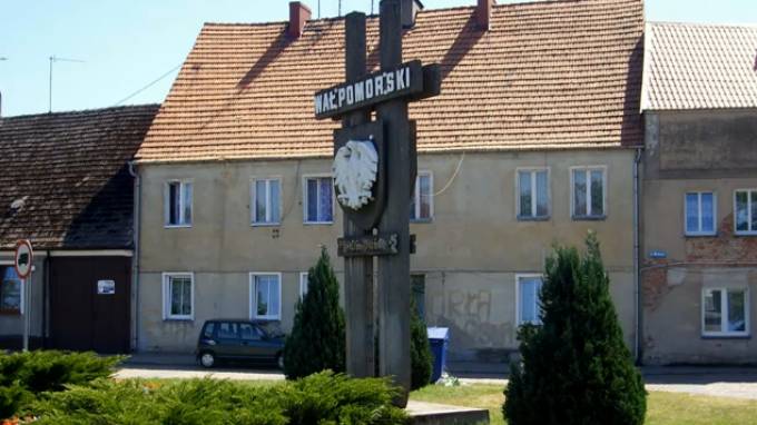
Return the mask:
<svg viewBox="0 0 757 425">
<path fill-rule="evenodd" d="M 749 334 L 749 294 L 746 288 L 706 288 L 701 304 L 702 335 Z"/>
</svg>

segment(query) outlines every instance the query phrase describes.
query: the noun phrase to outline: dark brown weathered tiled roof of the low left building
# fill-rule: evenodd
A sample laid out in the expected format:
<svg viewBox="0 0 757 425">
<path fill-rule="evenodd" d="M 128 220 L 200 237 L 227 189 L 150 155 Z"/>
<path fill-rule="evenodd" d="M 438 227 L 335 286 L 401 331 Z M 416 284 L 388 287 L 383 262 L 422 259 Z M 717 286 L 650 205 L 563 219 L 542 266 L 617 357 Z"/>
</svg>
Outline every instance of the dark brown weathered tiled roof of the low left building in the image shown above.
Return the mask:
<svg viewBox="0 0 757 425">
<path fill-rule="evenodd" d="M 129 248 L 134 158 L 157 105 L 0 118 L 0 248 Z M 13 208 L 16 207 L 16 208 Z"/>
</svg>

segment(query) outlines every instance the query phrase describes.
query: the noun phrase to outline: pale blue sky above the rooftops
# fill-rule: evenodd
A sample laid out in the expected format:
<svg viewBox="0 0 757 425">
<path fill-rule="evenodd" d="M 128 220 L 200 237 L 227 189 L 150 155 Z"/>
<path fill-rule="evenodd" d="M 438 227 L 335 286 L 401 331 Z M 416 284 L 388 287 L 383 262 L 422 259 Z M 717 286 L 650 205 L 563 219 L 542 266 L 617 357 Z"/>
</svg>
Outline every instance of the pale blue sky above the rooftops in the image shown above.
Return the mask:
<svg viewBox="0 0 757 425">
<path fill-rule="evenodd" d="M 380 0 L 374 0 L 377 8 Z M 317 0 L 304 0 L 317 14 Z M 475 0 L 423 0 L 429 9 Z M 499 0 L 500 3 L 511 2 Z M 0 0 L 2 115 L 48 111 L 49 58 L 52 110 L 100 108 L 178 67 L 203 22 L 286 20 L 288 0 Z M 322 17 L 337 16 L 337 0 L 321 0 Z M 656 21 L 755 23 L 755 0 L 646 0 Z M 370 12 L 371 0 L 342 0 L 342 11 Z M 757 49 L 757 47 L 755 47 Z M 160 102 L 177 71 L 126 101 Z"/>
</svg>

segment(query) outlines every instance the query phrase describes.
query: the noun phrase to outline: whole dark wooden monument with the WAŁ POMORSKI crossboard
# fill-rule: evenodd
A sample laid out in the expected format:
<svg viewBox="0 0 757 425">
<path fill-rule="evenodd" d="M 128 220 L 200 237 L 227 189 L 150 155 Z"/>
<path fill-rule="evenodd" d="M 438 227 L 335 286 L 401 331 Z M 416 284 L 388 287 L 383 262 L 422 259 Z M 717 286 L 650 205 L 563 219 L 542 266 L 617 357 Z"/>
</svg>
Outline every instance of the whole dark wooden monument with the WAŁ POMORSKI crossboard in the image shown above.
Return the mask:
<svg viewBox="0 0 757 425">
<path fill-rule="evenodd" d="M 402 62 L 401 0 L 382 0 L 380 14 L 381 69 L 366 73 L 365 14 L 347 14 L 346 82 L 315 93 L 318 119 L 342 119 L 334 135 L 335 154 L 342 148 L 370 144 L 377 164 L 356 156 L 356 149 L 342 151 L 358 164 L 360 170 L 346 172 L 344 185 L 354 192 L 343 194 L 336 185 L 337 199 L 351 195 L 345 207 L 344 238 L 338 240 L 344 257 L 345 312 L 347 325 L 347 373 L 356 377 L 374 376 L 376 346 L 374 323 L 377 316 L 378 362 L 381 376 L 392 376 L 404 388 L 396 404 L 404 406 L 410 391 L 410 198 L 415 185 L 417 156 L 415 125 L 409 120 L 407 103 L 440 92 L 439 66 L 423 67 L 420 61 Z M 371 120 L 372 112 L 376 120 Z M 350 145 L 352 144 L 357 145 Z M 368 149 L 370 150 L 370 149 Z M 351 157 L 352 156 L 352 157 Z M 365 156 L 365 155 L 364 155 Z M 345 166 L 347 167 L 347 166 Z M 375 181 L 361 176 L 374 172 Z M 373 176 L 373 175 L 371 175 Z M 355 182 L 355 179 L 358 180 Z M 360 190 L 357 190 L 360 189 Z M 345 190 L 347 191 L 347 190 Z M 376 231 L 374 231 L 376 230 Z M 377 259 L 377 315 L 374 315 L 373 261 Z"/>
</svg>

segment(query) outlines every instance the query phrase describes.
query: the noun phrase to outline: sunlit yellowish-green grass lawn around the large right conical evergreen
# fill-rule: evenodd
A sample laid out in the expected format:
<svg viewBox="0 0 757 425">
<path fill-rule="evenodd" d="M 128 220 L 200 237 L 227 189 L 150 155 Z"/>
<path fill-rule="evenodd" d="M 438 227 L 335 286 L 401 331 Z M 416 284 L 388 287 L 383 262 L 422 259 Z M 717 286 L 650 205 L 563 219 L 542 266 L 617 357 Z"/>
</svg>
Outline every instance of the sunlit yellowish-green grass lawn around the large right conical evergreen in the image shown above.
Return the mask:
<svg viewBox="0 0 757 425">
<path fill-rule="evenodd" d="M 422 402 L 483 407 L 491 423 L 504 424 L 502 387 L 466 385 L 443 387 L 431 385 L 411 394 Z M 677 393 L 649 393 L 646 425 L 739 425 L 757 423 L 757 401 L 705 397 Z"/>
</svg>

